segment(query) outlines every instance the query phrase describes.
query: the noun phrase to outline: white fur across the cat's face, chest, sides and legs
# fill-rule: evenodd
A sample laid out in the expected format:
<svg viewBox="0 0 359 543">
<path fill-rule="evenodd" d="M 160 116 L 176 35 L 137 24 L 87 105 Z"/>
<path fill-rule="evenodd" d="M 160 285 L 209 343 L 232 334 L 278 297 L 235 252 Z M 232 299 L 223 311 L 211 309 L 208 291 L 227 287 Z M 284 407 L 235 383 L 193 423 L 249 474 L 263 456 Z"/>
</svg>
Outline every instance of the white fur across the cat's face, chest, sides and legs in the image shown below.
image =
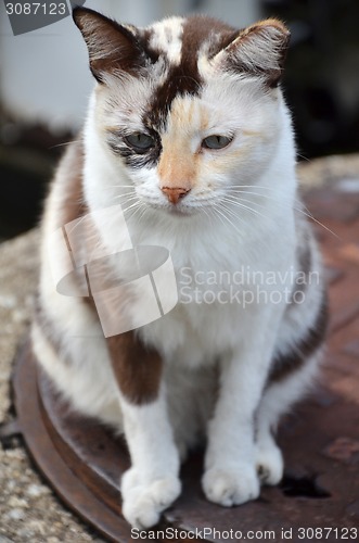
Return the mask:
<svg viewBox="0 0 359 543">
<path fill-rule="evenodd" d="M 153 39 L 163 48 L 167 47 L 170 30 L 172 42 L 167 55 L 171 62 L 179 62 L 180 20 L 155 28 Z M 201 151 L 196 184 L 178 204 L 182 213 L 171 213 L 171 204 L 159 189 L 157 168 L 127 168 L 103 138 L 104 126 L 116 124 L 141 131 L 141 112 L 146 97 L 155 89 L 158 66 L 153 67 L 153 76 L 150 74 L 146 81 L 110 77 L 105 88 L 93 93 L 85 131 L 86 201 L 92 211 L 121 203 L 133 245 L 167 248 L 179 287 L 183 268 L 191 269 L 192 277 L 198 272 L 234 274 L 243 266 L 285 276 L 289 268 L 296 270 L 298 264 L 295 152 L 281 91 L 265 92 L 261 81 L 251 77 L 219 76 L 216 63 L 205 63 L 203 59 L 200 65 L 207 84 L 200 97 L 187 96 L 172 102 L 171 115 L 161 135 L 164 152 L 176 140 L 178 149 L 194 155 L 200 152 L 201 141 L 211 134 L 231 134 L 233 141 L 218 152 Z M 134 110 L 128 97 L 136 100 Z M 107 98 L 117 106 L 108 108 Z M 206 127 L 201 128 L 204 117 Z M 172 312 L 138 330 L 141 340 L 162 354 L 165 371 L 158 399 L 149 405 L 133 405 L 115 386 L 105 344 L 90 311 L 76 299 L 57 294 L 51 282 L 46 243 L 61 223 L 59 202 L 66 190 L 65 177 L 63 166 L 43 222 L 41 302 L 65 338 L 62 358 L 67 353 L 72 365 L 65 366 L 56 357 L 36 327 L 35 351 L 76 408 L 125 431 L 132 459 L 121 482 L 125 517 L 138 528 L 157 522 L 161 512 L 180 492 L 179 457 L 183 458 L 188 447 L 204 437 L 209 419 L 203 477 L 206 496 L 225 506 L 257 497 L 257 467 L 269 483 L 277 483 L 283 470 L 270 430 L 310 384 L 316 368 L 313 359 L 264 393 L 270 363 L 274 351 L 291 345 L 298 337 L 298 328 L 310 324 L 320 303 L 321 287 L 308 289 L 307 303 L 289 321 L 283 318 L 284 301 L 254 303 L 246 308 L 218 301 L 209 305 L 185 303 L 180 289 L 180 303 Z M 236 192 L 234 186 L 239 185 L 244 186 L 245 193 Z M 239 201 L 242 198 L 242 207 L 233 194 Z M 231 199 L 226 200 L 229 195 Z M 221 202 L 226 206 L 220 207 Z M 111 219 L 97 226 L 104 247 L 110 251 L 117 247 Z M 320 269 L 319 261 L 315 268 Z M 190 286 L 188 295 L 194 296 L 195 287 Z M 200 299 L 203 300 L 207 287 L 200 289 Z M 283 293 L 286 288 L 291 288 L 290 278 L 279 286 L 264 286 L 267 295 L 273 290 Z M 211 289 L 229 293 L 228 286 Z M 240 289 L 255 292 L 251 283 Z M 257 443 L 253 439 L 255 414 Z"/>
</svg>

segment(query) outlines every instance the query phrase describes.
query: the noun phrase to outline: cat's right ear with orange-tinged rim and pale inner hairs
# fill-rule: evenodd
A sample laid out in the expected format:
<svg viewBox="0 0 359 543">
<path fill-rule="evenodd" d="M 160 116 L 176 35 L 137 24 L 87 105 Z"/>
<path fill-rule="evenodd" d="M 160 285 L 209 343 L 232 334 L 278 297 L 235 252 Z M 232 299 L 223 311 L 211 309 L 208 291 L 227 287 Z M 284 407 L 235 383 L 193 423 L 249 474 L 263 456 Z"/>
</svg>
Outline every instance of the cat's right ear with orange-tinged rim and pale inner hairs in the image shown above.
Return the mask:
<svg viewBox="0 0 359 543">
<path fill-rule="evenodd" d="M 277 18 L 260 21 L 241 30 L 215 61 L 225 70 L 260 75 L 275 87 L 282 75 L 290 30 Z"/>
</svg>

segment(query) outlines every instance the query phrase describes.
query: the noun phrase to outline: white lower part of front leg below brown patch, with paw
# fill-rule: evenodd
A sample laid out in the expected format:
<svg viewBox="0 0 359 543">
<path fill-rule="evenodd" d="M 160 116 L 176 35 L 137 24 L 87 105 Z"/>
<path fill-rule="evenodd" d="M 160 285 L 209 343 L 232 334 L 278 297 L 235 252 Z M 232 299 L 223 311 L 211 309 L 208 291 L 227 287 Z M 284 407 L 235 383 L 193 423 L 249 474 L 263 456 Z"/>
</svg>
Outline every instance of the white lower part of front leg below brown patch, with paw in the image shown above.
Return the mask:
<svg viewBox="0 0 359 543">
<path fill-rule="evenodd" d="M 180 494 L 179 455 L 163 393 L 144 405 L 123 397 L 121 407 L 132 463 L 121 479 L 123 514 L 131 526 L 146 529 Z"/>
</svg>

